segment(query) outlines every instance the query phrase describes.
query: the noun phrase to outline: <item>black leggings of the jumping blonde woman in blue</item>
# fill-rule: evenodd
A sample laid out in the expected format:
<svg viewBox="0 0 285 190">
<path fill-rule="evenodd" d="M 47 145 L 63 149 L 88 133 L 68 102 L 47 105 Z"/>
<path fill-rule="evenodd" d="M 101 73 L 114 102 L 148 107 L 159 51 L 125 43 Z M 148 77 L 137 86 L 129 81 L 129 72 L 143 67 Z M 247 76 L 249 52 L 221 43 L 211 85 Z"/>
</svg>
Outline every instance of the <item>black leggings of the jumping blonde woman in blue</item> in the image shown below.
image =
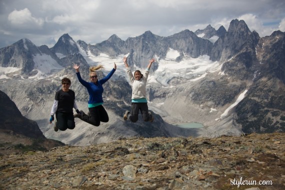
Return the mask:
<svg viewBox="0 0 285 190">
<path fill-rule="evenodd" d="M 84 115 L 82 120 L 95 126 L 99 126 L 100 122 L 108 122 L 109 116 L 102 105 L 89 107 L 89 115 Z"/>
</svg>

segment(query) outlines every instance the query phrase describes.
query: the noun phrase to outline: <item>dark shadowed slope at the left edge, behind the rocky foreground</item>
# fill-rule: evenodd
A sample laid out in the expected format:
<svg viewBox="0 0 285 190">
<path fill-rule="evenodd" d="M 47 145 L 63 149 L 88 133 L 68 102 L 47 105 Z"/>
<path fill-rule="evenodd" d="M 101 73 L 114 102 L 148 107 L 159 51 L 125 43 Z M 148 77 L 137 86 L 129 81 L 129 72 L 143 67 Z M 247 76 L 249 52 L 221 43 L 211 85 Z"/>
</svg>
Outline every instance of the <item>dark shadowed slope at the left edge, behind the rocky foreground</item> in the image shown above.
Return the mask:
<svg viewBox="0 0 285 190">
<path fill-rule="evenodd" d="M 0 154 L 48 150 L 62 142 L 47 139 L 36 122 L 22 116 L 15 103 L 0 90 Z"/>
</svg>

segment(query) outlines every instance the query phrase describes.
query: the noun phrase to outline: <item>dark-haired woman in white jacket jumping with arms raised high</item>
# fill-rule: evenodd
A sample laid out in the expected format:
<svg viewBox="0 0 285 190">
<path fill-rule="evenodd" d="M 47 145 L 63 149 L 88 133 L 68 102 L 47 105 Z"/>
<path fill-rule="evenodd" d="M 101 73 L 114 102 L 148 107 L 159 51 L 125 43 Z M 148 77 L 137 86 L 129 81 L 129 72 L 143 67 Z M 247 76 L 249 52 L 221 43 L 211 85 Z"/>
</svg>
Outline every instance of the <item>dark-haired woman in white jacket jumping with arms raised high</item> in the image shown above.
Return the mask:
<svg viewBox="0 0 285 190">
<path fill-rule="evenodd" d="M 147 106 L 147 99 L 146 99 L 146 80 L 149 73 L 149 68 L 152 64 L 152 62 L 155 61 L 154 58 L 149 60 L 149 64 L 147 65 L 147 68 L 143 72 L 143 74 L 139 70 L 135 70 L 134 74 L 132 75 L 131 70 L 126 63 L 126 57 L 123 57 L 123 62 L 126 68 L 126 72 L 131 84 L 131 110 L 126 110 L 123 119 L 127 120 L 129 119 L 131 122 L 136 122 L 138 120 L 138 112 L 140 110 L 142 114 L 142 118 L 144 121 L 153 121 L 153 115 L 148 112 L 148 106 Z"/>
</svg>

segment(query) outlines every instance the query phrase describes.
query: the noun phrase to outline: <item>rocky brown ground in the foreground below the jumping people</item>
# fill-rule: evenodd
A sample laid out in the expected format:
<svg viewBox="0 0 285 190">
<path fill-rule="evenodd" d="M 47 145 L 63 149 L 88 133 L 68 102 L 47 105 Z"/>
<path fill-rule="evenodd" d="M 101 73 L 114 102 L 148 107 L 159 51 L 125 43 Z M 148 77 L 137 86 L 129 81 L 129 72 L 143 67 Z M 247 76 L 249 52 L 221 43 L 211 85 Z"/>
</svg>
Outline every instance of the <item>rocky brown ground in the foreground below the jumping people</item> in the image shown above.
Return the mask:
<svg viewBox="0 0 285 190">
<path fill-rule="evenodd" d="M 0 189 L 285 189 L 285 133 L 131 137 L 0 156 Z"/>
</svg>

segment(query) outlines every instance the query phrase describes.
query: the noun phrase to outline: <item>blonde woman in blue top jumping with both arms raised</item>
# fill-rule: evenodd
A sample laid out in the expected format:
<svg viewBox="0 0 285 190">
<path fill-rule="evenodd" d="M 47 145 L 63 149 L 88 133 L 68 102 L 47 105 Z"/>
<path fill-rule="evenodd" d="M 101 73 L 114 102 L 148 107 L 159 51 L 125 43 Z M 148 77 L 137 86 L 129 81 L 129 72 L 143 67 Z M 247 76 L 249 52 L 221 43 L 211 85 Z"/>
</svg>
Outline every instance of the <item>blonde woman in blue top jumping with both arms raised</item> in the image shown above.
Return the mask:
<svg viewBox="0 0 285 190">
<path fill-rule="evenodd" d="M 76 70 L 76 75 L 79 82 L 87 88 L 87 91 L 89 93 L 89 100 L 88 100 L 89 113 L 75 114 L 74 117 L 78 117 L 81 120 L 95 126 L 99 126 L 100 122 L 108 122 L 109 116 L 105 108 L 102 106 L 103 104 L 102 93 L 104 91 L 102 84 L 108 81 L 108 79 L 110 79 L 110 77 L 113 75 L 113 73 L 116 70 L 116 64 L 114 63 L 113 69 L 104 78 L 100 80 L 98 80 L 96 70 L 103 68 L 103 66 L 98 65 L 90 67 L 89 68 L 90 82 L 87 82 L 81 78 L 79 72 L 80 65 L 74 64 L 72 67 Z"/>
</svg>

